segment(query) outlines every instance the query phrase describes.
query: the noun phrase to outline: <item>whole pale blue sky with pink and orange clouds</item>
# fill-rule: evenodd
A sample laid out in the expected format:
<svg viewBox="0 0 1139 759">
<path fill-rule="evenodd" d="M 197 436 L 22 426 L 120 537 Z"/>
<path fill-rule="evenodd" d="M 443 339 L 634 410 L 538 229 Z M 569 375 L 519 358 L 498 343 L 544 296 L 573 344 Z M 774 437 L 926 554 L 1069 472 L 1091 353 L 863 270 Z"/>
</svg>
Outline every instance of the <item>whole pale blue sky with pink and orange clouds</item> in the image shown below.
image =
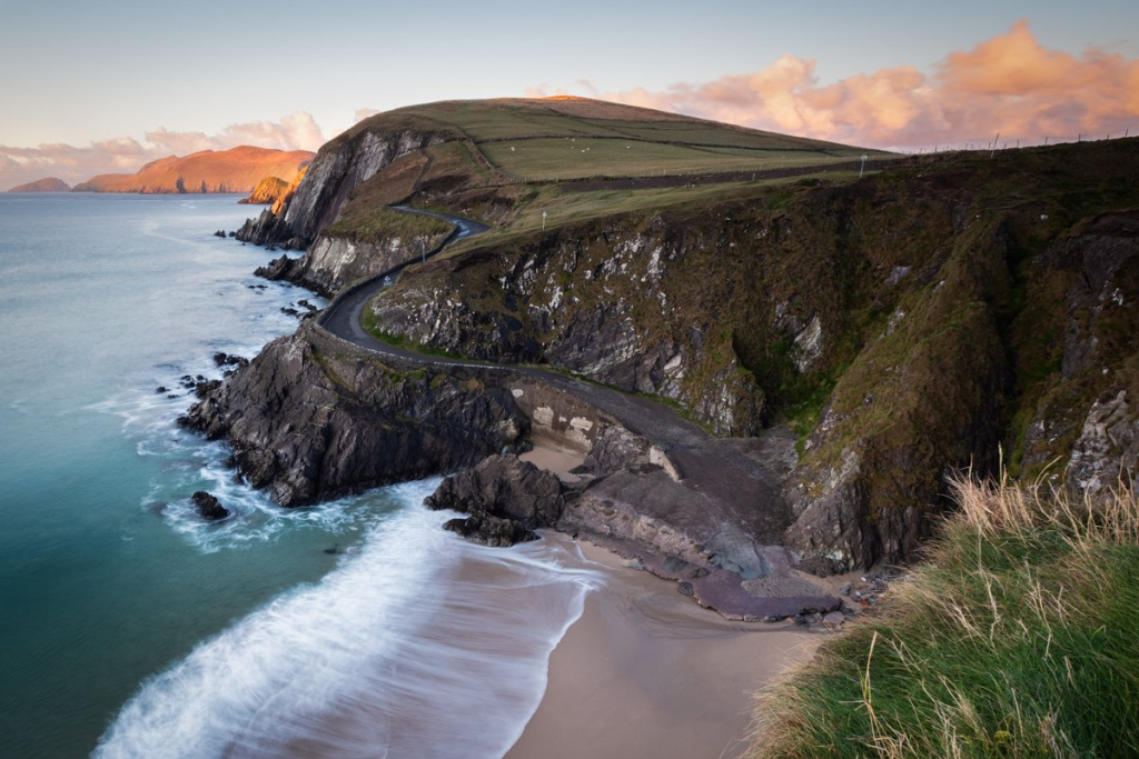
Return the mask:
<svg viewBox="0 0 1139 759">
<path fill-rule="evenodd" d="M 886 149 L 1118 137 L 1139 2 L 0 0 L 0 190 L 564 93 Z"/>
</svg>

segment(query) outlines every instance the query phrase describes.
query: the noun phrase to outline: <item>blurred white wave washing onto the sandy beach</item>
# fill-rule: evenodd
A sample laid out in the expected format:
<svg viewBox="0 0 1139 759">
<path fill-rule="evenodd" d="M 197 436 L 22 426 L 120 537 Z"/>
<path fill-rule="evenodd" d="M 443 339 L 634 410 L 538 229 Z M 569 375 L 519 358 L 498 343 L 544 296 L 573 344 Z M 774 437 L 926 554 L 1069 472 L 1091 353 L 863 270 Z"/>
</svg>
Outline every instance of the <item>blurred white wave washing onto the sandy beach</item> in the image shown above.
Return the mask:
<svg viewBox="0 0 1139 759">
<path fill-rule="evenodd" d="M 418 503 L 431 484 L 392 488 Z M 144 684 L 96 749 L 118 757 L 500 757 L 599 581 L 544 542 L 482 548 L 419 506 L 361 551 Z"/>
</svg>

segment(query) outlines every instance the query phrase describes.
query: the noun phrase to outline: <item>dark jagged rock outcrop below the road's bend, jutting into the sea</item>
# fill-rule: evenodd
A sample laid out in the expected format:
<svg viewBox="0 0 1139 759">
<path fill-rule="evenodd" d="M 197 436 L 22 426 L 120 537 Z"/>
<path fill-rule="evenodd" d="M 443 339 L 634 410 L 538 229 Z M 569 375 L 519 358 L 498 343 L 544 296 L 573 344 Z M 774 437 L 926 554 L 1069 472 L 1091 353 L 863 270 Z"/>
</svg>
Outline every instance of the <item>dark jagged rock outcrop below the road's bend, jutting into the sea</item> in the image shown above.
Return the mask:
<svg viewBox="0 0 1139 759">
<path fill-rule="evenodd" d="M 302 327 L 212 387 L 182 423 L 224 439 L 238 471 L 300 506 L 470 467 L 526 419 L 477 376 L 387 365 Z"/>
</svg>

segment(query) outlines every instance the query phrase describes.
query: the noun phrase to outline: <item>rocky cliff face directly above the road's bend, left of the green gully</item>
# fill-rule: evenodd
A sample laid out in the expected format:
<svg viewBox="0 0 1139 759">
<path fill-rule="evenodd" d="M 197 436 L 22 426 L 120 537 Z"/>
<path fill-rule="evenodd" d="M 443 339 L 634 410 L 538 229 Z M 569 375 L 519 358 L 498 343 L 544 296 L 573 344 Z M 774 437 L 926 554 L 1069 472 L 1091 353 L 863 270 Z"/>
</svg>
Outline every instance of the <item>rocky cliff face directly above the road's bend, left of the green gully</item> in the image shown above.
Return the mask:
<svg viewBox="0 0 1139 759">
<path fill-rule="evenodd" d="M 679 401 L 720 434 L 754 435 L 763 393 L 730 333 L 708 340 L 715 314 L 677 304 L 690 295 L 685 278 L 704 277 L 695 270 L 712 253 L 705 232 L 663 215 L 568 226 L 408 278 L 372 313 L 424 346 L 549 362 Z"/>
</svg>

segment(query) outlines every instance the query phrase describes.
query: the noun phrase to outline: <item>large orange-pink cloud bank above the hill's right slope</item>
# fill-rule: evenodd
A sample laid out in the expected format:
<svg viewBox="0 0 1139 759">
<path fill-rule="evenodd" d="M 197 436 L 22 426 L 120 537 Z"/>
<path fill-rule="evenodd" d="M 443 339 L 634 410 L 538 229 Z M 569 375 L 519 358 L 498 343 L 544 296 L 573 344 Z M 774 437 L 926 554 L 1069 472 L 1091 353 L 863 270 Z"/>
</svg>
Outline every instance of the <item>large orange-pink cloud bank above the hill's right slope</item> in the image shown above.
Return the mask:
<svg viewBox="0 0 1139 759">
<path fill-rule="evenodd" d="M 1051 50 L 1021 20 L 928 73 L 896 66 L 820 85 L 813 60 L 785 55 L 751 74 L 600 97 L 880 148 L 977 143 L 997 132 L 1031 143 L 1139 131 L 1139 59 Z"/>
</svg>

